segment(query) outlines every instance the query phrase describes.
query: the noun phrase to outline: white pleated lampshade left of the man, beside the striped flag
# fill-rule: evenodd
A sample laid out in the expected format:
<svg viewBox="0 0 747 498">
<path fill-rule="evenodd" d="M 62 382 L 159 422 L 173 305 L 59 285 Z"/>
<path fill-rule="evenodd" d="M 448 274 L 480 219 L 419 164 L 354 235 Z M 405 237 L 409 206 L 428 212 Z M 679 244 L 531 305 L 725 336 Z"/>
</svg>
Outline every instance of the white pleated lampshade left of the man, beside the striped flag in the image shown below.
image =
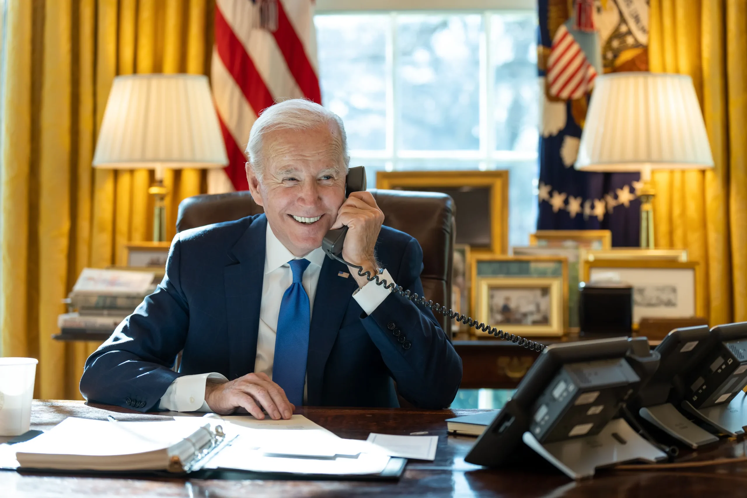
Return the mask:
<svg viewBox="0 0 747 498">
<path fill-rule="evenodd" d="M 204 75 L 114 78 L 93 166 L 212 168 L 228 164 Z"/>
</svg>

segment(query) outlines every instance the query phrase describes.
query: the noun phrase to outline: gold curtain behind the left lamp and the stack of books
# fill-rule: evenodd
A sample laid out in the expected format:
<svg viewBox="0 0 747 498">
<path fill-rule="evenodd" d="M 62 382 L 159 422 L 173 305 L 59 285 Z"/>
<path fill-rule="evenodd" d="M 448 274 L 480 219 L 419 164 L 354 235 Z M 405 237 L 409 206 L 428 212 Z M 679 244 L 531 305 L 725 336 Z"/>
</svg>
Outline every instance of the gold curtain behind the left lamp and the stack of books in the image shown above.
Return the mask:
<svg viewBox="0 0 747 498">
<path fill-rule="evenodd" d="M 213 2 L 5 1 L 2 354 L 39 359 L 34 396 L 80 399 L 98 343 L 52 340 L 61 300 L 84 267 L 125 264 L 124 244 L 152 232 L 152 173 L 91 167 L 109 89 L 117 74 L 204 74 Z M 179 202 L 204 192 L 203 173 L 167 174 L 167 237 Z"/>
</svg>

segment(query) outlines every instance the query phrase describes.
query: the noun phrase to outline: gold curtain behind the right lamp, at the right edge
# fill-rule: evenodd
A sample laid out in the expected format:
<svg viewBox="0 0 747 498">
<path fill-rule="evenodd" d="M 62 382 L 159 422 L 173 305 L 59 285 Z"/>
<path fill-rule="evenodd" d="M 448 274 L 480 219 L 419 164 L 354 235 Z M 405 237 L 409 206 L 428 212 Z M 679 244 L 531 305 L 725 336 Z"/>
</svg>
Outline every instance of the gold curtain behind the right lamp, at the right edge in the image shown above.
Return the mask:
<svg viewBox="0 0 747 498">
<path fill-rule="evenodd" d="M 651 0 L 652 72 L 690 75 L 715 167 L 654 172 L 656 245 L 684 247 L 701 269 L 696 311 L 747 320 L 747 4 Z"/>
</svg>

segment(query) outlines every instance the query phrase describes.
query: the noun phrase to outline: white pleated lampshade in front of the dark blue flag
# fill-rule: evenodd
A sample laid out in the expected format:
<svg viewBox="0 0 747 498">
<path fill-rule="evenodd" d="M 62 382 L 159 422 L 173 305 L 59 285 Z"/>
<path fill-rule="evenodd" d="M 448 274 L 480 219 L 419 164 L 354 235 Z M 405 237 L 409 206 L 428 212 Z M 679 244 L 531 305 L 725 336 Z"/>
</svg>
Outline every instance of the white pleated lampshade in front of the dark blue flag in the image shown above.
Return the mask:
<svg viewBox="0 0 747 498">
<path fill-rule="evenodd" d="M 713 167 L 692 79 L 651 72 L 599 76 L 575 167 L 645 173 Z"/>
</svg>

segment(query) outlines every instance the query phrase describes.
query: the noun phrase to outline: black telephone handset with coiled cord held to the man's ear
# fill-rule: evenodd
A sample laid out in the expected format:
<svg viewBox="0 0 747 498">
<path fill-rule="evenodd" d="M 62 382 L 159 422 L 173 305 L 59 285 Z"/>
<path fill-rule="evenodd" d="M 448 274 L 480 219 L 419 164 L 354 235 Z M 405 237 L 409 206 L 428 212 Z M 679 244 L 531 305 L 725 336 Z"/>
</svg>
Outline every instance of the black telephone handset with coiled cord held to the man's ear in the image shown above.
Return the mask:
<svg viewBox="0 0 747 498">
<path fill-rule="evenodd" d="M 351 192 L 359 192 L 361 190 L 366 190 L 365 168 L 363 166 L 356 166 L 348 169 L 347 178 L 345 178 L 345 197 L 347 198 L 347 196 L 350 196 Z M 386 281 L 385 278 L 381 278 L 378 275 L 371 276 L 371 272 L 368 270 L 363 271 L 363 267 L 359 267 L 356 264 L 348 263 L 343 258 L 341 258 L 342 246 L 345 242 L 345 235 L 347 235 L 347 226 L 327 231 L 324 239 L 322 240 L 322 249 L 324 253 L 329 256 L 329 258 L 332 258 L 335 261 L 340 261 L 342 264 L 345 264 L 348 267 L 356 268 L 358 270 L 359 276 L 365 277 L 368 281 L 376 281 L 376 285 L 382 285 L 386 289 L 393 289 L 395 293 L 398 293 L 400 296 L 403 296 L 406 299 L 415 302 L 416 305 L 422 305 L 432 311 L 438 311 L 438 313 L 444 315 L 445 317 L 449 317 L 453 320 L 456 320 L 457 322 L 465 323 L 467 326 L 474 327 L 477 330 L 488 332 L 489 334 L 495 335 L 495 337 L 500 337 L 504 340 L 510 340 L 512 343 L 517 343 L 519 346 L 524 346 L 535 351 L 542 351 L 545 349 L 545 346 L 541 343 L 525 339 L 524 337 L 519 337 L 515 334 L 503 332 L 502 330 L 495 329 L 495 327 L 486 325 L 485 323 L 478 323 L 477 320 L 472 320 L 466 315 L 459 314 L 455 311 L 447 309 L 446 306 L 441 306 L 438 304 L 438 302 L 434 303 L 433 301 L 427 301 L 425 297 L 418 296 L 418 294 L 415 293 L 411 293 L 409 290 L 403 289 L 403 287 L 401 287 L 400 285 L 394 285 L 394 283 L 390 284 Z"/>
</svg>

